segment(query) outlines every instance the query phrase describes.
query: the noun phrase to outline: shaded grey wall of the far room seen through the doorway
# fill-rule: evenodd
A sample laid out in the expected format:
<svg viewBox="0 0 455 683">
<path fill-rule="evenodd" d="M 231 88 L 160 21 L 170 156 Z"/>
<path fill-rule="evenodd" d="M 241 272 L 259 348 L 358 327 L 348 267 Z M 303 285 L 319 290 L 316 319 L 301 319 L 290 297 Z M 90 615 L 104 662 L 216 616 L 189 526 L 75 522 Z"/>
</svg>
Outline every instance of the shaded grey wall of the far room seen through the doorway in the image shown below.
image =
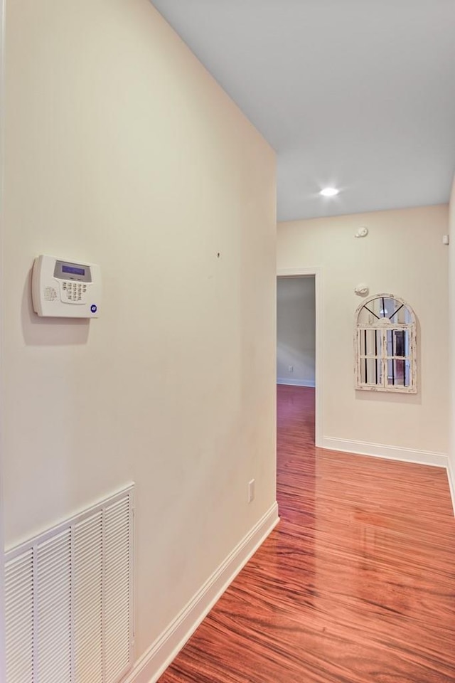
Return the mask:
<svg viewBox="0 0 455 683">
<path fill-rule="evenodd" d="M 279 277 L 277 282 L 277 382 L 314 386 L 314 277 Z M 293 368 L 289 371 L 289 366 Z"/>
</svg>

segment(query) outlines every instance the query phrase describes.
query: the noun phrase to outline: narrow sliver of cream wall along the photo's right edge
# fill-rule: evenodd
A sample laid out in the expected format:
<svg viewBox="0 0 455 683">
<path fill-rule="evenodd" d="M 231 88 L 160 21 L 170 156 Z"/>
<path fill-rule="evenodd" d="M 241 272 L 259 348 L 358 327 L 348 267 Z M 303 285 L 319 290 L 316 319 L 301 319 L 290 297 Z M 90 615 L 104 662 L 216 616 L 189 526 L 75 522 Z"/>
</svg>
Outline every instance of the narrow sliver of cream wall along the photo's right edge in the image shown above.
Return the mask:
<svg viewBox="0 0 455 683">
<path fill-rule="evenodd" d="M 449 483 L 455 512 L 455 176 L 449 205 L 449 353 L 450 353 L 450 445 L 449 445 Z"/>
</svg>

